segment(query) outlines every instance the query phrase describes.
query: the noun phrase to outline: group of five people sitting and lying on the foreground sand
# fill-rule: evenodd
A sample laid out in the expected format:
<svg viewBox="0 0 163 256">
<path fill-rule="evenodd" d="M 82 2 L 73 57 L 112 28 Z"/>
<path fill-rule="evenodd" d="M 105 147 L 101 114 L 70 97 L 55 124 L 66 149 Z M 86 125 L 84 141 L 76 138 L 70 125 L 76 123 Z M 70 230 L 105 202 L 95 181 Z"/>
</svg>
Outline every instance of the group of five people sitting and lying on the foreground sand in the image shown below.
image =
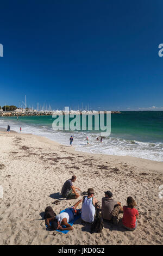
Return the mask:
<svg viewBox="0 0 163 256">
<path fill-rule="evenodd" d="M 78 198 L 80 188 L 73 186 L 73 182 L 76 181 L 77 176 L 73 175 L 71 179 L 66 180 L 62 186 L 61 194 L 65 198 Z M 105 197 L 102 198 L 102 208 L 98 205 L 98 200 L 94 197 L 95 192 L 93 188 L 89 188 L 87 192 L 80 193 L 87 194 L 83 199 L 79 200 L 73 206 L 67 208 L 64 212 L 61 212 L 58 215 L 55 215 L 51 206 L 48 206 L 45 210 L 45 219 L 46 225 L 48 228 L 53 230 L 73 230 L 72 225 L 68 222 L 72 221 L 74 217 L 82 213 L 82 222 L 83 223 L 92 223 L 96 210 L 101 211 L 101 215 L 104 221 L 118 224 L 118 215 L 123 213 L 122 226 L 127 230 L 133 231 L 137 226 L 136 219 L 139 216 L 139 212 L 134 208 L 136 202 L 132 197 L 127 198 L 127 205 L 121 206 L 120 202 L 112 198 L 111 191 L 105 191 Z M 82 209 L 77 210 L 77 206 L 82 203 Z M 51 225 L 50 225 L 51 223 Z M 62 226 L 65 226 L 63 228 Z"/>
</svg>

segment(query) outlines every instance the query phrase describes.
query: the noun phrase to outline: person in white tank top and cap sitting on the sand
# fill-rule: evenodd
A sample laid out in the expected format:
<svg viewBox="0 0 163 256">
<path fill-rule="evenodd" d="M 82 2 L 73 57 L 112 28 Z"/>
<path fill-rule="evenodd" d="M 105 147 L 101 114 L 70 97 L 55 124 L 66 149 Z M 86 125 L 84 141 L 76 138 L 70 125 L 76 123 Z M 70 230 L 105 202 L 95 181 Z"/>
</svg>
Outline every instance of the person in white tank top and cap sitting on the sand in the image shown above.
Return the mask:
<svg viewBox="0 0 163 256">
<path fill-rule="evenodd" d="M 82 204 L 82 221 L 92 223 L 95 217 L 96 209 L 99 208 L 98 200 L 94 198 L 95 192 L 93 188 L 87 190 L 87 197 L 83 197 Z"/>
</svg>

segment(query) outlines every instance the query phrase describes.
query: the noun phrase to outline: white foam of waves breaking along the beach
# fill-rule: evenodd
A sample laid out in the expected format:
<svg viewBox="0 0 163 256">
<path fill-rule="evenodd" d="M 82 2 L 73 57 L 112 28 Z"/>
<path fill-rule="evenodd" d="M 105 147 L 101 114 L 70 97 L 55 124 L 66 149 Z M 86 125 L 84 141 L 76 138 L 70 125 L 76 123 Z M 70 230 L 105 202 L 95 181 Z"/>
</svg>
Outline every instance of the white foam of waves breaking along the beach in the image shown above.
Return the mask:
<svg viewBox="0 0 163 256">
<path fill-rule="evenodd" d="M 142 159 L 163 161 L 163 143 L 131 141 L 117 137 L 103 138 L 101 143 L 96 141 L 96 137 L 99 136 L 98 133 L 53 131 L 51 127 L 47 126 L 28 125 L 27 123 L 17 123 L 9 120 L 0 120 L 0 127 L 7 128 L 8 123 L 10 123 L 11 130 L 20 132 L 21 126 L 22 133 L 32 133 L 47 137 L 63 145 L 69 145 L 70 136 L 73 135 L 73 146 L 77 151 L 94 154 L 135 156 Z M 89 136 L 90 145 L 86 144 L 86 136 Z"/>
</svg>

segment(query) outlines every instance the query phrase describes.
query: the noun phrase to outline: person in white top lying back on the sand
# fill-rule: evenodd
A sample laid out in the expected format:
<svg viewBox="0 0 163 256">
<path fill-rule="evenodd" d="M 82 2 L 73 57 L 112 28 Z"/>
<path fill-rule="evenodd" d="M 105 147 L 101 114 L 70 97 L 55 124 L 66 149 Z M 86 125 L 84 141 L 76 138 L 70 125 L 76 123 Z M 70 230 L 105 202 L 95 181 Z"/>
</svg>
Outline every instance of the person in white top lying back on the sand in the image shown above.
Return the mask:
<svg viewBox="0 0 163 256">
<path fill-rule="evenodd" d="M 82 199 L 79 200 L 72 207 L 67 208 L 64 212 L 61 212 L 61 214 L 58 214 L 57 216 L 52 218 L 47 218 L 45 220 L 47 227 L 52 228 L 53 230 L 73 230 L 73 227 L 68 224 L 68 222 L 72 221 L 74 217 L 80 214 L 81 209 L 76 210 L 76 208 L 81 202 Z M 52 226 L 49 222 L 51 222 Z M 65 225 L 66 228 L 62 228 L 62 225 Z"/>
</svg>

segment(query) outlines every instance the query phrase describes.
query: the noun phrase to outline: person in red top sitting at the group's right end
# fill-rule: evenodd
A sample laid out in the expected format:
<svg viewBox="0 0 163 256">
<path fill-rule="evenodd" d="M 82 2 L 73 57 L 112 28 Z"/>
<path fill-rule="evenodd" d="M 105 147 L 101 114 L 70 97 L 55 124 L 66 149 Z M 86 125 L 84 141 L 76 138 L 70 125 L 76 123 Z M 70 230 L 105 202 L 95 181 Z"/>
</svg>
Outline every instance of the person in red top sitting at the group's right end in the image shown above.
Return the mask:
<svg viewBox="0 0 163 256">
<path fill-rule="evenodd" d="M 122 226 L 130 231 L 134 231 L 137 226 L 136 218 L 139 212 L 134 208 L 136 202 L 132 197 L 127 198 L 127 206 L 123 206 Z"/>
</svg>

